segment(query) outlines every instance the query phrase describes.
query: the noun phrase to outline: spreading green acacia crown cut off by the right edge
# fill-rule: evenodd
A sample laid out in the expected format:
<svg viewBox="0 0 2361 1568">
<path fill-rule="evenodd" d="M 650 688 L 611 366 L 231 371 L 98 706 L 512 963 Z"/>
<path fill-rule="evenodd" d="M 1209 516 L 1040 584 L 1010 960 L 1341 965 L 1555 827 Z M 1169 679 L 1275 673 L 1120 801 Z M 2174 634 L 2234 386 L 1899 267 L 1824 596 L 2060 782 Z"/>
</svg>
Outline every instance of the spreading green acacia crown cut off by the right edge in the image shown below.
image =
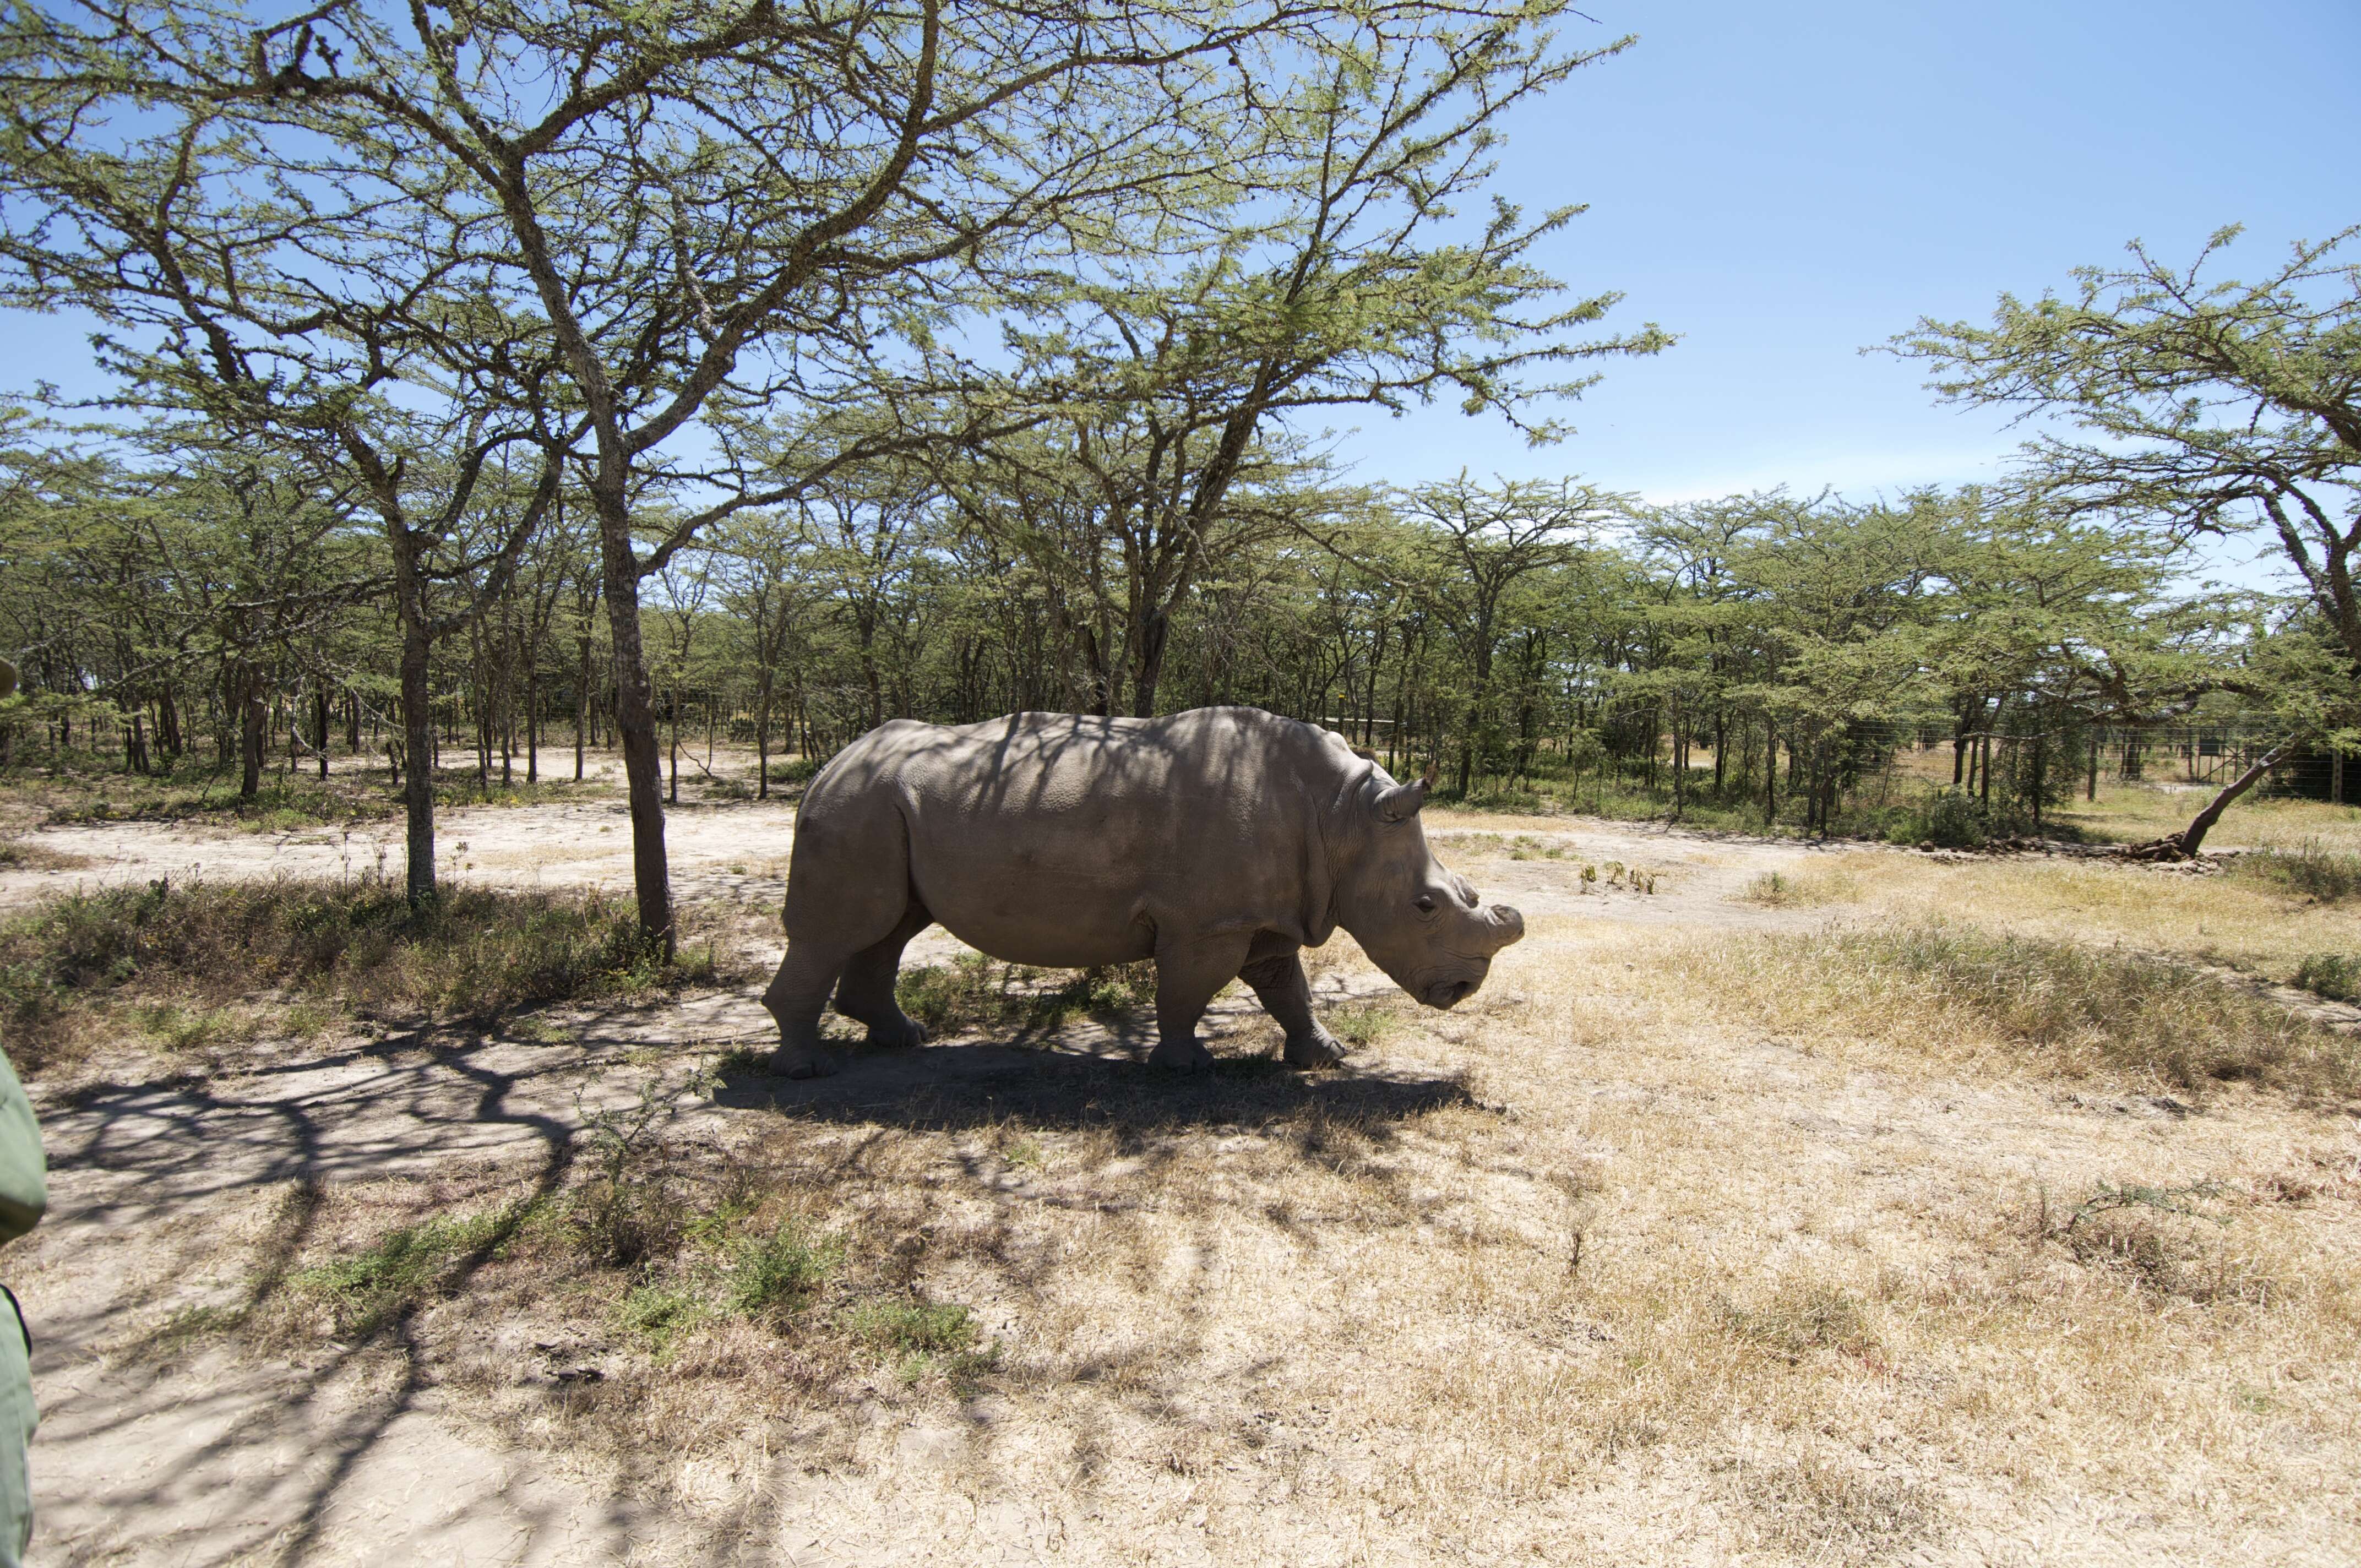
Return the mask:
<svg viewBox="0 0 2361 1568">
<path fill-rule="evenodd" d="M 2267 527 L 2361 661 L 2361 229 L 2300 243 L 2257 283 L 2210 281 L 2222 229 L 2189 267 L 2130 248 L 2071 298 L 2002 295 L 1990 326 L 1922 319 L 1894 349 L 1950 401 L 2056 416 L 2030 494 L 2174 536 Z"/>
</svg>

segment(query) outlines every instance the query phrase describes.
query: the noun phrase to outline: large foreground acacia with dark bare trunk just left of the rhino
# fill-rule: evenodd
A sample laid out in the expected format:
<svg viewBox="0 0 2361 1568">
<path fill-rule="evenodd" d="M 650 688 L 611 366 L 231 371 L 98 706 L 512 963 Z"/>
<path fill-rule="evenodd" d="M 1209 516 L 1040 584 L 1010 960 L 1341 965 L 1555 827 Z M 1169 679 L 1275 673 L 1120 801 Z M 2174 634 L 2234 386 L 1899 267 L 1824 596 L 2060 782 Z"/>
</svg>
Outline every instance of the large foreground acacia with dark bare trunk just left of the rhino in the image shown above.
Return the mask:
<svg viewBox="0 0 2361 1568">
<path fill-rule="evenodd" d="M 668 949 L 640 586 L 699 529 L 819 477 L 753 460 L 746 425 L 888 373 L 1039 243 L 1119 243 L 1119 208 L 1232 161 L 1242 57 L 1325 14 L 501 0 L 446 21 L 333 7 L 208 52 L 175 35 L 170 59 L 203 59 L 179 76 L 215 102 L 293 97 L 333 144 L 434 170 L 453 222 L 501 250 L 503 312 L 555 345 L 600 522 L 640 926 Z M 649 527 L 654 491 L 685 501 Z"/>
</svg>

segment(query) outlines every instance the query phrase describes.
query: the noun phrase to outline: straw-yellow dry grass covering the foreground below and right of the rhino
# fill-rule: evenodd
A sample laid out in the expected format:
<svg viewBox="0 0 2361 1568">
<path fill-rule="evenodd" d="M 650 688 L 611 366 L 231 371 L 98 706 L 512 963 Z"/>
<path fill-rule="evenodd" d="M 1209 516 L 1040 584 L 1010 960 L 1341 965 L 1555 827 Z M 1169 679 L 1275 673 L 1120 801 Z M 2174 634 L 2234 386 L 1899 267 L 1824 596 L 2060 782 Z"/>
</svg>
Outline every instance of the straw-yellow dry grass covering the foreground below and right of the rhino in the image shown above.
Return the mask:
<svg viewBox="0 0 2361 1568">
<path fill-rule="evenodd" d="M 1834 893 L 1771 912 L 1799 940 L 1945 912 L 2172 947 L 2179 900 L 2234 893 L 1901 852 L 1804 876 Z M 1957 1011 L 1912 1037 L 1889 989 L 1778 952 L 1539 914 L 1459 1013 L 1358 1004 L 1400 1015 L 1350 1074 L 1242 1060 L 1256 1025 L 1211 1084 L 1041 1053 L 989 1096 L 699 1110 L 642 1169 L 675 1249 L 524 1228 L 375 1353 L 713 1556 L 2361 1559 L 2352 1122 L 2245 1086 L 2163 1108 Z M 1317 971 L 1369 980 L 1343 940 Z M 522 1195 L 489 1164 L 333 1195 L 288 1278 Z M 833 1273 L 727 1311 L 732 1237 L 784 1223 Z M 652 1287 L 711 1311 L 659 1346 L 626 1320 Z M 966 1308 L 977 1355 L 897 1348 L 876 1304 Z M 522 1379 L 519 1346 L 600 1379 Z"/>
</svg>

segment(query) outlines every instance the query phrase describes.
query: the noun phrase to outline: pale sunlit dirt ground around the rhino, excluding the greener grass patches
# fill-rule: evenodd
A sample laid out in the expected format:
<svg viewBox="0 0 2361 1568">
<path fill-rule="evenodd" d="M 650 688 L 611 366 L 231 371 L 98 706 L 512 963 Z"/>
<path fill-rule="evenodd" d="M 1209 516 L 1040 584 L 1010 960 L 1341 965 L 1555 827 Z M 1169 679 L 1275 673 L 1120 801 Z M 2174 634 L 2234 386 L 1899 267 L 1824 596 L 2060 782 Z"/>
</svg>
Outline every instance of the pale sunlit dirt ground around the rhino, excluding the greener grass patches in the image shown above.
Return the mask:
<svg viewBox="0 0 2361 1568">
<path fill-rule="evenodd" d="M 1927 902 L 2118 919 L 1993 881 L 2064 867 L 1431 829 L 1530 935 L 1452 1015 L 1339 937 L 1322 1006 L 1374 1020 L 1341 1072 L 1280 1070 L 1225 999 L 1211 1082 L 1147 1074 L 1131 1013 L 791 1084 L 730 1056 L 767 1037 L 756 982 L 33 1084 L 52 1211 L 7 1259 L 33 1561 L 2361 1561 L 2347 1110 L 1804 1039 L 1712 982 L 1731 945 Z M 359 874 L 394 831 L 42 829 L 83 864 L 0 904 Z M 772 907 L 791 834 L 786 805 L 682 808 L 675 890 Z M 619 801 L 456 810 L 442 845 L 456 876 L 628 888 Z M 1766 874 L 1837 881 L 1764 902 Z M 215 1327 L 352 1235 L 564 1190 L 586 1124 L 649 1093 L 680 1169 L 789 1193 L 989 1360 L 822 1367 L 744 1325 L 652 1348 L 604 1285 L 498 1259 L 380 1334 Z M 2134 1185 L 2208 1195 L 2212 1287 L 2059 1244 L 2052 1207 Z"/>
</svg>

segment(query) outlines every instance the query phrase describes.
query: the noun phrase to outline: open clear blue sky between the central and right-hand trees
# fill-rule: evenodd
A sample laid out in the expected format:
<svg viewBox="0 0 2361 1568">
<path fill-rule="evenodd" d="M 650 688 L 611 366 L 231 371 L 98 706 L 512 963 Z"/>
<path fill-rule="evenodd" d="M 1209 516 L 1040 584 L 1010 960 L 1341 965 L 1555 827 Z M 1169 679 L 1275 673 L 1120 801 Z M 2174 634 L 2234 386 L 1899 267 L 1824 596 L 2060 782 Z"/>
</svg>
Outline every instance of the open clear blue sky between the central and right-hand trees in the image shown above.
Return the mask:
<svg viewBox="0 0 2361 1568">
<path fill-rule="evenodd" d="M 2021 432 L 1858 349 L 2132 239 L 2179 260 L 2241 222 L 2236 276 L 2361 222 L 2356 0 L 1584 9 L 1601 26 L 1572 38 L 1639 45 L 1523 113 L 1502 189 L 1589 203 L 1546 262 L 1681 342 L 1608 361 L 1554 449 L 1457 411 L 1379 416 L 1339 444 L 1365 479 L 1580 472 L 1676 501 L 1993 477 Z"/>
</svg>

